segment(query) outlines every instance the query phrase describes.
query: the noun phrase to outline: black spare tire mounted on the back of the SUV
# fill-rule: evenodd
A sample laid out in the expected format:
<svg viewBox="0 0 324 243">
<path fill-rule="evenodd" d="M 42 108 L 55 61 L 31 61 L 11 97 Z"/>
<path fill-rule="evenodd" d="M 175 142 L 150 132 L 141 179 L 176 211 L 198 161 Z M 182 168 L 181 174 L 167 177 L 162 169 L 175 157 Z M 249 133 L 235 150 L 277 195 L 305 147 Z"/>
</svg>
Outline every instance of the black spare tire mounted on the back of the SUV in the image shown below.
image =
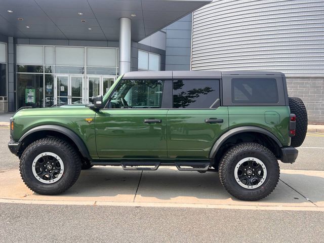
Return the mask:
<svg viewBox="0 0 324 243">
<path fill-rule="evenodd" d="M 303 101 L 298 97 L 289 97 L 290 112 L 296 115 L 296 135 L 292 137 L 291 146 L 299 147 L 305 140 L 307 132 L 307 111 Z"/>
</svg>

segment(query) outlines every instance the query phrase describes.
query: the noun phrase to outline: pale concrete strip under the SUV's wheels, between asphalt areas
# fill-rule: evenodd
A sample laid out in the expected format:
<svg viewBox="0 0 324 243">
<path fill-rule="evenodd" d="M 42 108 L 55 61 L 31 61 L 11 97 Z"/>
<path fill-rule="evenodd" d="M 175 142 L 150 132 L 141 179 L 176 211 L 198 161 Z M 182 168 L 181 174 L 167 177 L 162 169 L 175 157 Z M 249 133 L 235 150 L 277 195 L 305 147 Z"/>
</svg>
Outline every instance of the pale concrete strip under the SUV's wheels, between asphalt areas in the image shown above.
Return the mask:
<svg viewBox="0 0 324 243">
<path fill-rule="evenodd" d="M 1 203 L 324 211 L 324 171 L 281 170 L 275 190 L 259 201 L 232 197 L 218 173 L 179 172 L 172 167 L 130 172 L 95 166 L 56 196 L 33 193 L 18 170 L 0 173 L 0 184 Z"/>
</svg>

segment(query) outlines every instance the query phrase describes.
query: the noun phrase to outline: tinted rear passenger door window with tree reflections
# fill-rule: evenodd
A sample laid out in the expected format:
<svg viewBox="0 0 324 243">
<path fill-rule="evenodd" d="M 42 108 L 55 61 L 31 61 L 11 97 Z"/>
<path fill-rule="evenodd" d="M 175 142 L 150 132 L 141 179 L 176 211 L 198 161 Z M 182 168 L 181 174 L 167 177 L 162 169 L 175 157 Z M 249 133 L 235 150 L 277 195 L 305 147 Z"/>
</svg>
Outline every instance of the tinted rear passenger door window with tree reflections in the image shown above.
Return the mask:
<svg viewBox="0 0 324 243">
<path fill-rule="evenodd" d="M 217 79 L 173 81 L 173 108 L 209 108 L 218 98 L 220 92 Z"/>
</svg>

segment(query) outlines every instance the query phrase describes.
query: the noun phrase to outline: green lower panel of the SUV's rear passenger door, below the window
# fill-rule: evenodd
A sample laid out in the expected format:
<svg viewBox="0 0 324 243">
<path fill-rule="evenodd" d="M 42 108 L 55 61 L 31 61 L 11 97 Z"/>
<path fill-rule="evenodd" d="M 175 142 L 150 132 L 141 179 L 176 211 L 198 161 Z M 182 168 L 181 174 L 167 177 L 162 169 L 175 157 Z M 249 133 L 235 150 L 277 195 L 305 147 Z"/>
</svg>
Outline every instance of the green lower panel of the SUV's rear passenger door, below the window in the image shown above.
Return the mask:
<svg viewBox="0 0 324 243">
<path fill-rule="evenodd" d="M 205 119 L 223 119 L 208 124 Z M 168 111 L 168 157 L 208 159 L 216 140 L 228 130 L 228 108 L 170 109 Z"/>
</svg>

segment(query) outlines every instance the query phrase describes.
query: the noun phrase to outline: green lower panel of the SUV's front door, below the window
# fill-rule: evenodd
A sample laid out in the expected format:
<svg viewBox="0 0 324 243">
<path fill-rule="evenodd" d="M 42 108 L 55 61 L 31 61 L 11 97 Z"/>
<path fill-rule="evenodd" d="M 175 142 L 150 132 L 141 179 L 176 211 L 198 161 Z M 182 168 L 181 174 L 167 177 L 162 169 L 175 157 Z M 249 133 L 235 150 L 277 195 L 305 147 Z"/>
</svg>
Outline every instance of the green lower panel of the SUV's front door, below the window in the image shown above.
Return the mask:
<svg viewBox="0 0 324 243">
<path fill-rule="evenodd" d="M 102 109 L 96 115 L 99 158 L 167 158 L 167 109 Z M 161 119 L 145 124 L 144 119 Z"/>
</svg>

